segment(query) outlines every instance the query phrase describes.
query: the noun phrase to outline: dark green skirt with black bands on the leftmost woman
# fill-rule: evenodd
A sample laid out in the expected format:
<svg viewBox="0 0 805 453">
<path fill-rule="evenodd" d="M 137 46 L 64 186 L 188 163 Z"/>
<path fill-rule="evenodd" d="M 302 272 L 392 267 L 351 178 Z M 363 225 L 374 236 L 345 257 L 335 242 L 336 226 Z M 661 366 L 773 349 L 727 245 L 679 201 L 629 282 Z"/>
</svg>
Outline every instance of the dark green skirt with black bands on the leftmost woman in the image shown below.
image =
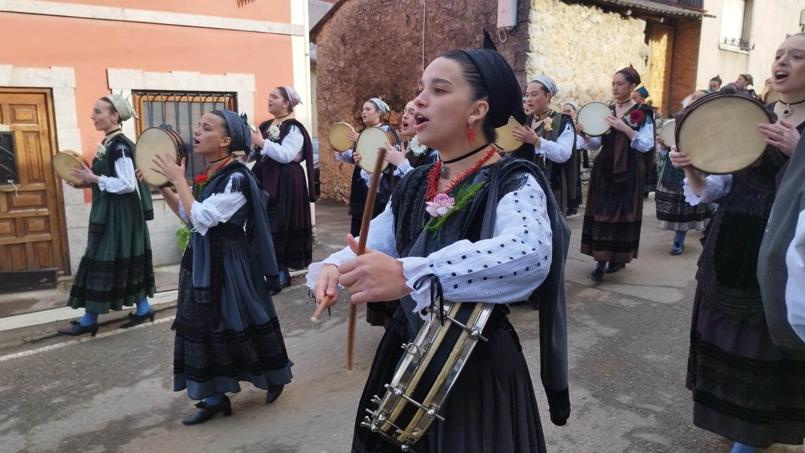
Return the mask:
<svg viewBox="0 0 805 453">
<path fill-rule="evenodd" d="M 123 310 L 155 292 L 151 239 L 137 192 L 108 194 L 106 222 L 89 240 L 67 305 L 89 313 Z"/>
</svg>

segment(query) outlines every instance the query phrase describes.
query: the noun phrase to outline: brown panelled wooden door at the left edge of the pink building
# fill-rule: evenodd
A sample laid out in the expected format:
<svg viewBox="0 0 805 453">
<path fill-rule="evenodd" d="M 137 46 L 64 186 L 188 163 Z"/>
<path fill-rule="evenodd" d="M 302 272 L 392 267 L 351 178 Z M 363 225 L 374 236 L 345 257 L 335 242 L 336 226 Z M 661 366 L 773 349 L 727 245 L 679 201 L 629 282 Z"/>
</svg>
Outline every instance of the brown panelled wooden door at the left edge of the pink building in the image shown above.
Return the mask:
<svg viewBox="0 0 805 453">
<path fill-rule="evenodd" d="M 13 151 L 0 149 L 14 171 L 0 181 L 0 271 L 59 268 L 69 272 L 64 247 L 61 182 L 51 159 L 52 98 L 46 89 L 0 89 L 0 124 L 13 133 Z M 6 181 L 10 180 L 10 181 Z"/>
</svg>

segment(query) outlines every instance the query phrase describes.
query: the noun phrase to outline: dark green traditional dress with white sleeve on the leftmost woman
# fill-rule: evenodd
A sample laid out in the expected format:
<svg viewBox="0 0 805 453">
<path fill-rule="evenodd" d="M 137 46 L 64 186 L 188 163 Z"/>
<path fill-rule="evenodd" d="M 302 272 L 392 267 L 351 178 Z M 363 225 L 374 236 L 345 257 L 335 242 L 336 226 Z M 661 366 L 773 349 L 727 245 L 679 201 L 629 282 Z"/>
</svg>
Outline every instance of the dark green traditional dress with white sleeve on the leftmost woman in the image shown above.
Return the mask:
<svg viewBox="0 0 805 453">
<path fill-rule="evenodd" d="M 93 184 L 89 239 L 67 303 L 72 308 L 106 314 L 154 297 L 146 225 L 154 218 L 151 190 L 137 182 L 134 168 L 134 143 L 122 134 L 107 140 L 93 160 L 101 181 Z"/>
</svg>

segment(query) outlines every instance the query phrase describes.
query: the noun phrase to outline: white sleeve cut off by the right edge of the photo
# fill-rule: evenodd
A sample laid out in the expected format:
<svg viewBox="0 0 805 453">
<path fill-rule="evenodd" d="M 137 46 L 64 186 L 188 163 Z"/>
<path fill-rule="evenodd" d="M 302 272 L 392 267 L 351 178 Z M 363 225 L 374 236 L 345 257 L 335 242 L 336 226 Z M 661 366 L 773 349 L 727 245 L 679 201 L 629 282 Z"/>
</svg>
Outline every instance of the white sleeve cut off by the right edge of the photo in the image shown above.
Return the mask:
<svg viewBox="0 0 805 453">
<path fill-rule="evenodd" d="M 805 210 L 799 213 L 794 239 L 786 251 L 786 309 L 788 322 L 805 341 Z"/>
</svg>

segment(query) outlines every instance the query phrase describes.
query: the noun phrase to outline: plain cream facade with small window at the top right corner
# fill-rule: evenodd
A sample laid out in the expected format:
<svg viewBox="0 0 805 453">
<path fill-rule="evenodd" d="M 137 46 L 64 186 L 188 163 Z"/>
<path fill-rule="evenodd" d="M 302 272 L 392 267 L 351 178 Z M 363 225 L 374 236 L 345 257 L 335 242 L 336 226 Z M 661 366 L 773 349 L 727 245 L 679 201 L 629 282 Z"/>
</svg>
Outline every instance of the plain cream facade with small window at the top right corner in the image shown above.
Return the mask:
<svg viewBox="0 0 805 453">
<path fill-rule="evenodd" d="M 778 46 L 803 31 L 805 0 L 704 0 L 704 7 L 715 17 L 702 20 L 697 89 L 716 75 L 728 83 L 749 73 L 760 94 Z"/>
</svg>

